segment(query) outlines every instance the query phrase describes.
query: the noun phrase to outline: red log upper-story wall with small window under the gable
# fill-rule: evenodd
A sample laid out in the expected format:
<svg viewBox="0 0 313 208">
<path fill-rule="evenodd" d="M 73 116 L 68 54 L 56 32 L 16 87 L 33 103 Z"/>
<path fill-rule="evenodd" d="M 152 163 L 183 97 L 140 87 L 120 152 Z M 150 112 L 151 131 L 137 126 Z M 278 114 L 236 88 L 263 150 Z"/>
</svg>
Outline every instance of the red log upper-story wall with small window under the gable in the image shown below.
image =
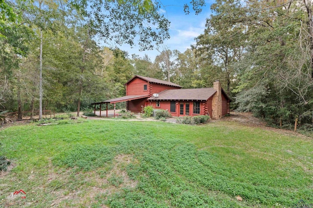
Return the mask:
<svg viewBox="0 0 313 208">
<path fill-rule="evenodd" d="M 144 85 L 147 85 L 145 90 Z M 166 89 L 180 89 L 180 87 L 169 86 L 158 83 L 149 83 L 148 81 L 142 80 L 135 77 L 132 81 L 126 84 L 126 95 L 150 95 L 154 93 L 162 92 Z"/>
</svg>

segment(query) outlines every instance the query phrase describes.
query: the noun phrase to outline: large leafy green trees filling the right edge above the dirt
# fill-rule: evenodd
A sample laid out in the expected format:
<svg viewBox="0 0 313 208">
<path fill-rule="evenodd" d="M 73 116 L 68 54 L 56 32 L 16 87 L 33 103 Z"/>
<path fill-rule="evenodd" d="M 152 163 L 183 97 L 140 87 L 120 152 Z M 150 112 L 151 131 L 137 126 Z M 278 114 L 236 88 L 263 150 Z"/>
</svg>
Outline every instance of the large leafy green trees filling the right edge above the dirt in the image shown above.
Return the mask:
<svg viewBox="0 0 313 208">
<path fill-rule="evenodd" d="M 250 110 L 274 124 L 290 124 L 295 115 L 308 122 L 307 115 L 312 115 L 308 104 L 313 98 L 312 5 L 295 0 L 246 4 L 218 0 L 211 8 L 214 20 L 230 22 L 228 29 L 245 28 L 245 48 L 234 65 L 239 85 L 233 92 L 243 101 L 238 104 L 243 107 L 246 93 L 266 89 L 256 94 L 258 101 L 251 100 L 255 104 L 249 104 Z M 261 108 L 256 107 L 260 100 Z"/>
</svg>

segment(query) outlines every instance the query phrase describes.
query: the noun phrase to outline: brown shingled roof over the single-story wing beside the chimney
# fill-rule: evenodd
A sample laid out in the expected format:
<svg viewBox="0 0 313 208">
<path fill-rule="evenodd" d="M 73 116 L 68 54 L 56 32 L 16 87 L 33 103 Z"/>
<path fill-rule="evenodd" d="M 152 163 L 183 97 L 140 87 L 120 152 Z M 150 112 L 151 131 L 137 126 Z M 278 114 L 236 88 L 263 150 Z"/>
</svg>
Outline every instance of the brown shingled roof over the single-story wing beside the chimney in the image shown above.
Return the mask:
<svg viewBox="0 0 313 208">
<path fill-rule="evenodd" d="M 198 100 L 206 101 L 216 93 L 214 88 L 168 89 L 158 93 L 158 97 L 148 100 Z"/>
</svg>

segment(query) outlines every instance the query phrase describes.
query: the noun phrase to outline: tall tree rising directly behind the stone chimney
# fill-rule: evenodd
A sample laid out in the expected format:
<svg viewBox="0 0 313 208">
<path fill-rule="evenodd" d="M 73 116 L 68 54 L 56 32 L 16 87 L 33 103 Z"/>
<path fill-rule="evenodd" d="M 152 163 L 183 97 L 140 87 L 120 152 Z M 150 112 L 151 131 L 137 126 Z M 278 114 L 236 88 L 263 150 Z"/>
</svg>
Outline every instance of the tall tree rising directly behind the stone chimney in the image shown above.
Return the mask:
<svg viewBox="0 0 313 208">
<path fill-rule="evenodd" d="M 236 74 L 233 65 L 241 59 L 245 40 L 245 27 L 214 15 L 206 20 L 204 34 L 196 39 L 195 48 L 198 53 L 211 56 L 213 64 L 221 68 L 220 75 L 226 80 L 228 95 L 231 81 Z"/>
</svg>

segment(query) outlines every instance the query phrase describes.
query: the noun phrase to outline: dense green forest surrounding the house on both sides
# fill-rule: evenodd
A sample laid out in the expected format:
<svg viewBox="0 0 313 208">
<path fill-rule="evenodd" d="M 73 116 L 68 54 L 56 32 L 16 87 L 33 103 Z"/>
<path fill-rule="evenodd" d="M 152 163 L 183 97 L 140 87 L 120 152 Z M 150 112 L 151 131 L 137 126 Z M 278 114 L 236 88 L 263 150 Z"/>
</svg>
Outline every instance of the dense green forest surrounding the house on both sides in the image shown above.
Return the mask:
<svg viewBox="0 0 313 208">
<path fill-rule="evenodd" d="M 198 14 L 204 5 L 192 0 L 183 9 Z M 161 1 L 0 0 L 0 112 L 21 118 L 42 103 L 79 113 L 124 96 L 134 75 L 184 88 L 219 79 L 232 109 L 282 127 L 298 118 L 313 129 L 312 7 L 310 0 L 216 0 L 196 44 L 179 52 L 162 44 L 170 22 L 158 12 Z M 98 40 L 138 40 L 141 50 L 158 48 L 159 55 L 151 60 Z"/>
</svg>

